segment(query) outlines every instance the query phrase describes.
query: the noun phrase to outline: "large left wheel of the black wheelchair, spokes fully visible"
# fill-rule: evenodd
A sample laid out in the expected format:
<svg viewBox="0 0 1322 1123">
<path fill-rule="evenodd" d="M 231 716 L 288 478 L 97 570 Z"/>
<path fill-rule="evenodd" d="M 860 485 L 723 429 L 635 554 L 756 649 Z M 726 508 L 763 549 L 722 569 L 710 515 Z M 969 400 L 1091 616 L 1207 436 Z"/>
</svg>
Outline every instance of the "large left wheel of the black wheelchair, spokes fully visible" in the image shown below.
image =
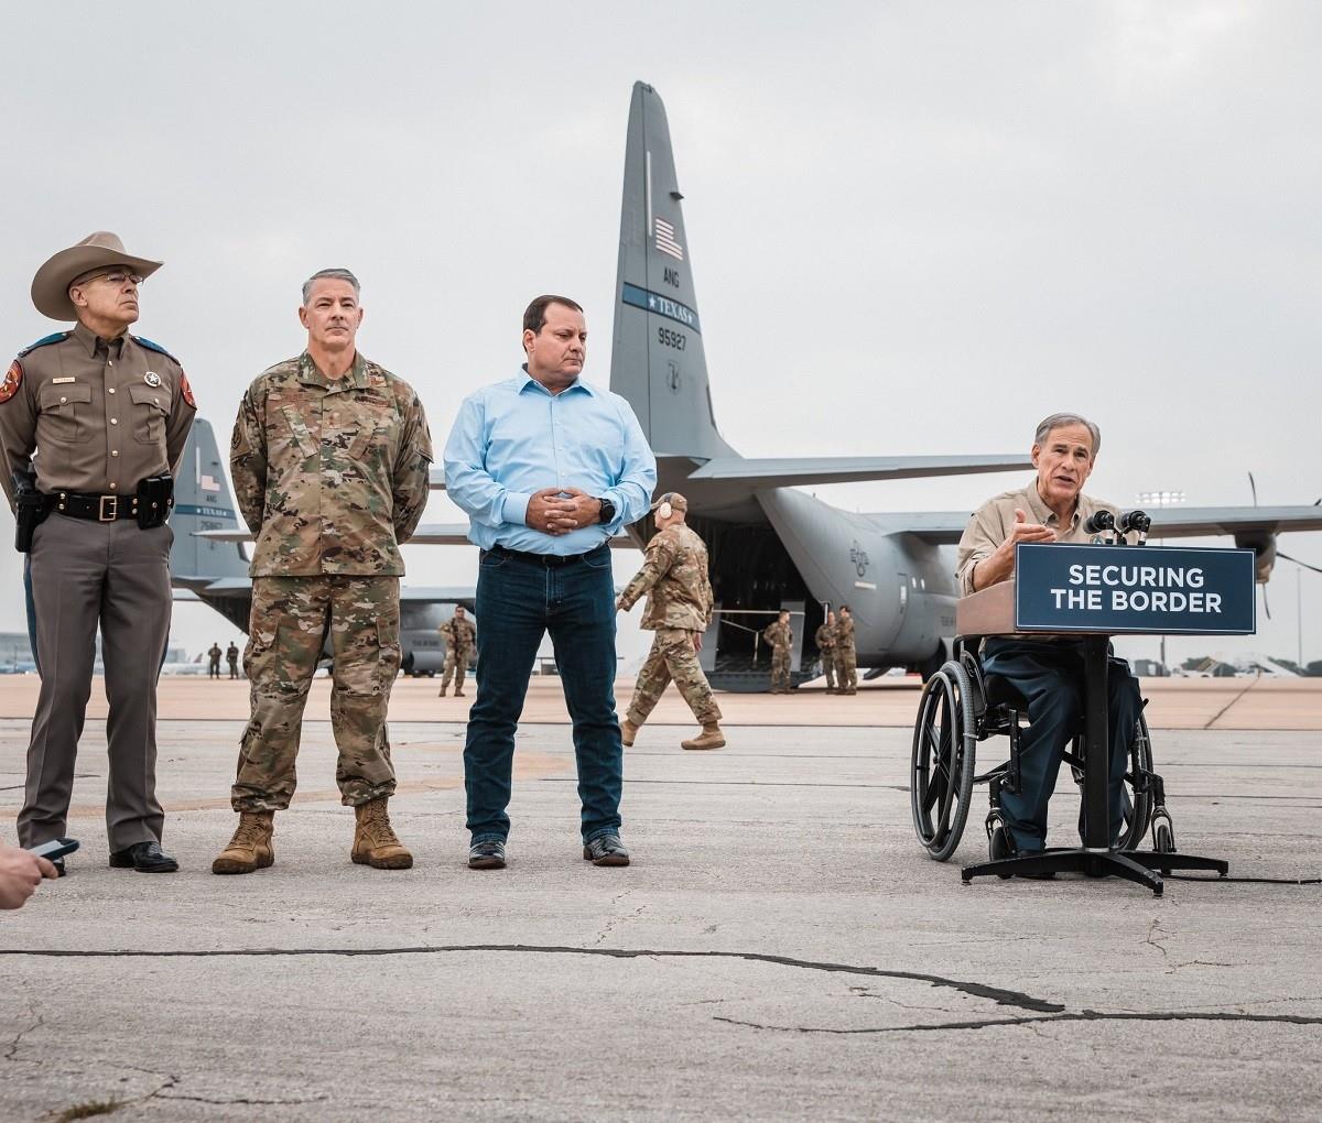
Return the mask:
<svg viewBox="0 0 1322 1123">
<path fill-rule="evenodd" d="M 954 853 L 964 834 L 976 749 L 969 676 L 952 661 L 923 687 L 910 766 L 914 830 L 936 861 Z"/>
</svg>

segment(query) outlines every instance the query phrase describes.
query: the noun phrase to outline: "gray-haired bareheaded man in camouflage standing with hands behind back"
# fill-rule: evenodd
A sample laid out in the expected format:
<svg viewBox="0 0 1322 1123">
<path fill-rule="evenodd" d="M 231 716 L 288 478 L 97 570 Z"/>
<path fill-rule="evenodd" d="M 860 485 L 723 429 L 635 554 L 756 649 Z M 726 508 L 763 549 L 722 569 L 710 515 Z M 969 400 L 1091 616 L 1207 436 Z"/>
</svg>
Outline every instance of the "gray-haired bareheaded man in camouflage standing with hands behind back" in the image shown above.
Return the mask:
<svg viewBox="0 0 1322 1123">
<path fill-rule="evenodd" d="M 431 436 L 412 388 L 356 349 L 352 272 L 313 273 L 299 318 L 307 350 L 249 387 L 234 424 L 234 491 L 256 538 L 243 654 L 253 716 L 231 793 L 239 824 L 212 871 L 275 860 L 274 818 L 293 794 L 303 707 L 328 639 L 336 782 L 357 819 L 350 857 L 407 869 L 412 855 L 386 811 L 386 707 L 399 672 L 399 543 L 427 502 Z"/>
</svg>

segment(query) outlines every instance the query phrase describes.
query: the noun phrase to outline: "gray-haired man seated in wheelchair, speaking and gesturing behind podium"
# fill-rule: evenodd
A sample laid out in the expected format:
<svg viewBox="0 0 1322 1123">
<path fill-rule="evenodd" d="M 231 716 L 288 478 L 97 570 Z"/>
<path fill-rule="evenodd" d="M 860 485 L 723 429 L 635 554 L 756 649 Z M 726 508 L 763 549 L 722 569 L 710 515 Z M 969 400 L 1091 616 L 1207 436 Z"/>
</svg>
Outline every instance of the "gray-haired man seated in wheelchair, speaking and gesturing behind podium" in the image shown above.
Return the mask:
<svg viewBox="0 0 1322 1123">
<path fill-rule="evenodd" d="M 1027 488 L 1005 491 L 984 503 L 960 539 L 961 596 L 1013 577 L 1015 543 L 1091 540 L 1087 530 L 1091 515 L 1099 510 L 1116 513 L 1113 505 L 1083 494 L 1100 444 L 1097 425 L 1076 414 L 1052 414 L 1038 425 L 1032 441 L 1036 477 Z M 1001 793 L 1007 836 L 993 836 L 992 857 L 1032 853 L 1046 847 L 1047 801 L 1064 752 L 1083 720 L 1083 646 L 1072 637 L 989 637 L 984 641 L 981 665 L 985 675 L 999 675 L 1023 695 L 1030 721 L 1019 739 L 1018 790 Z M 1114 843 L 1125 827 L 1125 768 L 1142 699 L 1129 663 L 1112 657 L 1108 671 L 1107 803 Z M 1006 844 L 1009 852 L 997 852 Z"/>
</svg>

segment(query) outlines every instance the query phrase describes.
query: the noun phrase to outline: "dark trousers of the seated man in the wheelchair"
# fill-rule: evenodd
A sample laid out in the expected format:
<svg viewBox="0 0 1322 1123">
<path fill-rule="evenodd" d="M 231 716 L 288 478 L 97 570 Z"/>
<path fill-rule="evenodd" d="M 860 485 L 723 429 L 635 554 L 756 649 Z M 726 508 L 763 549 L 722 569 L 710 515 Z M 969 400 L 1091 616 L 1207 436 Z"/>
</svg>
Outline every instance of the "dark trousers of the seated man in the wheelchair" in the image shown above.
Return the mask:
<svg viewBox="0 0 1322 1123">
<path fill-rule="evenodd" d="M 982 670 L 1007 679 L 1029 700 L 1029 728 L 1019 737 L 1019 791 L 1001 794 L 1006 826 L 1021 852 L 1042 850 L 1047 840 L 1047 801 L 1056 786 L 1060 761 L 1080 732 L 1084 716 L 1083 646 L 1032 639 L 988 639 Z M 1138 680 L 1129 663 L 1107 661 L 1110 774 L 1107 809 L 1110 840 L 1125 826 L 1125 769 L 1134 727 L 1142 711 Z M 1080 836 L 1083 816 L 1080 814 Z"/>
</svg>

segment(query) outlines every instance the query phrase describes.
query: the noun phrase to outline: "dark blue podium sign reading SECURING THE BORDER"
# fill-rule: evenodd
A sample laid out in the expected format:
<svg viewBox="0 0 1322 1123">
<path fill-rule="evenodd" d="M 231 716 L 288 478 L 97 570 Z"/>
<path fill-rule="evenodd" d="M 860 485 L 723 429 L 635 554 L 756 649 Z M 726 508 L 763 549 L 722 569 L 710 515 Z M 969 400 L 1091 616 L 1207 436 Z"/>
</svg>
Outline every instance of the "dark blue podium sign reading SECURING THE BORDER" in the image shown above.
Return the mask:
<svg viewBox="0 0 1322 1123">
<path fill-rule="evenodd" d="M 1018 632 L 1252 635 L 1252 550 L 1019 543 Z"/>
</svg>

